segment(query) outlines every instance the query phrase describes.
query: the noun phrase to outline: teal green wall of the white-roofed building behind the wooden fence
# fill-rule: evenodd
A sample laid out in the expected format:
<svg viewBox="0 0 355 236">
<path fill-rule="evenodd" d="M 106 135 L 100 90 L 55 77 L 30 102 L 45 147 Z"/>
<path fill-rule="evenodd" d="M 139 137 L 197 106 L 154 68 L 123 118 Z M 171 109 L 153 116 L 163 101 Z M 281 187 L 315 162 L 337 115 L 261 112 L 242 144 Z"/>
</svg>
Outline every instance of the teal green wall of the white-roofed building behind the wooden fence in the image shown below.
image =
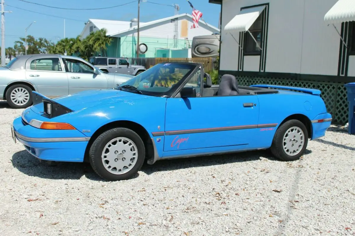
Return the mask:
<svg viewBox="0 0 355 236">
<path fill-rule="evenodd" d="M 118 57 L 136 57 L 137 37 L 124 36 L 120 38 L 120 55 Z M 145 54 L 140 54 L 140 57 L 158 57 L 155 55 L 155 49 L 172 49 L 174 47 L 173 39 L 148 38 L 139 37 L 139 43 L 145 43 L 148 46 L 148 51 Z M 111 44 L 112 45 L 112 44 Z M 186 43 L 184 39 L 178 40 L 178 49 L 184 49 Z M 184 56 L 187 57 L 187 56 Z"/>
</svg>

